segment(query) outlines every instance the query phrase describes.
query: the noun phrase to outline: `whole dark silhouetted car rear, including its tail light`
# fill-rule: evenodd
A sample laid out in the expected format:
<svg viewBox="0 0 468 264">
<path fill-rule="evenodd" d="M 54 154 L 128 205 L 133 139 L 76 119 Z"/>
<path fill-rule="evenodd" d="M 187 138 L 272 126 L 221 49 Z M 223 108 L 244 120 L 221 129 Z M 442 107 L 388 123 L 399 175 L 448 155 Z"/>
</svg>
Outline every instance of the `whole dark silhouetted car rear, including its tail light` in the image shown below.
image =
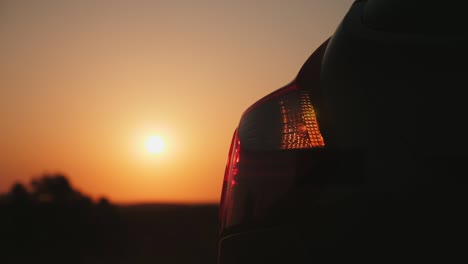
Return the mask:
<svg viewBox="0 0 468 264">
<path fill-rule="evenodd" d="M 355 1 L 294 80 L 245 110 L 219 264 L 466 259 L 463 10 Z"/>
</svg>

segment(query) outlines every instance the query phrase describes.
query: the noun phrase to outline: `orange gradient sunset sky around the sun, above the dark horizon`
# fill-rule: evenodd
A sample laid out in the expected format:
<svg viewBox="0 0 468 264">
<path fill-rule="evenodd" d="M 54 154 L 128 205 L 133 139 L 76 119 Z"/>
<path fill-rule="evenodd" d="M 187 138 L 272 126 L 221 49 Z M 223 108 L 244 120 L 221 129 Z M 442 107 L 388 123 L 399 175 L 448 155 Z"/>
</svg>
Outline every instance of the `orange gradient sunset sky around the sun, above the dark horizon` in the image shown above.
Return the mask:
<svg viewBox="0 0 468 264">
<path fill-rule="evenodd" d="M 218 202 L 242 112 L 351 3 L 0 0 L 0 192 L 61 172 L 114 202 Z"/>
</svg>

